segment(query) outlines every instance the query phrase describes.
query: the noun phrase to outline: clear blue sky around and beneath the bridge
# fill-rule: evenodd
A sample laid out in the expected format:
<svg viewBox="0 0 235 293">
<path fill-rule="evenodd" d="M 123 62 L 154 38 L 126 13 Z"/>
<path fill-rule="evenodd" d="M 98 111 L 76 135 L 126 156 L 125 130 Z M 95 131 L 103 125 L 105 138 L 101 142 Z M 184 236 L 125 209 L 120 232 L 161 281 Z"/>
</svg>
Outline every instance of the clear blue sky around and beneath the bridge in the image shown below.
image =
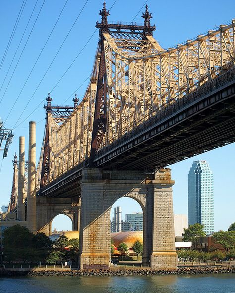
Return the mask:
<svg viewBox="0 0 235 293">
<path fill-rule="evenodd" d="M 44 0 L 38 0 L 15 60 L 12 63 L 12 67 L 9 70 L 8 76 L 6 77 L 5 83 L 0 91 L 0 100 L 5 92 L 11 74 L 15 68 L 43 1 Z M 0 62 L 22 2 L 23 0 L 1 0 L 0 2 Z M 0 117 L 3 121 L 6 120 L 13 103 L 18 97 L 65 2 L 66 0 L 45 0 L 38 20 L 34 26 L 24 52 L 22 53 L 11 82 L 9 83 L 9 87 L 5 92 L 5 96 L 0 104 Z M 68 0 L 54 32 L 52 33 L 41 57 L 38 60 L 38 63 L 25 85 L 25 88 L 23 89 L 5 123 L 6 127 L 12 127 L 15 125 L 85 2 L 85 0 Z M 55 61 L 43 79 L 41 85 L 38 87 L 34 97 L 31 99 L 26 111 L 22 114 L 22 117 L 19 119 L 18 123 L 21 123 L 47 96 L 47 93 L 54 88 L 63 73 L 67 70 L 68 66 L 94 33 L 95 23 L 100 19 L 98 12 L 99 9 L 102 8 L 102 2 L 102 0 L 88 0 L 83 12 L 79 16 L 76 24 L 61 47 L 59 54 L 55 58 Z M 35 3 L 36 0 L 28 0 L 26 2 L 22 17 L 12 39 L 11 46 L 9 47 L 5 61 L 0 70 L 0 87 L 6 76 L 6 72 L 12 61 L 13 55 L 22 37 Z M 108 9 L 113 3 L 114 0 L 107 0 Z M 144 0 L 117 0 L 110 11 L 111 15 L 109 16 L 109 20 L 130 22 L 133 20 L 144 3 Z M 164 48 L 173 47 L 174 45 L 187 39 L 192 39 L 197 35 L 202 34 L 209 29 L 213 29 L 215 26 L 228 22 L 235 17 L 233 14 L 234 9 L 232 9 L 234 7 L 234 0 L 227 0 L 226 5 L 222 5 L 221 2 L 214 0 L 198 0 L 196 2 L 185 0 L 177 2 L 173 0 L 148 0 L 147 4 L 149 5 L 150 12 L 152 12 L 153 15 L 151 21 L 152 23 L 155 23 L 157 27 L 157 30 L 154 32 L 154 37 Z M 231 7 L 231 9 L 228 7 Z M 142 11 L 144 11 L 144 8 Z M 136 17 L 136 22 L 142 22 L 142 18 L 140 17 L 141 15 L 142 14 L 139 13 Z M 54 104 L 62 104 L 89 76 L 92 70 L 97 41 L 98 31 L 95 32 L 88 45 L 78 56 L 63 79 L 52 91 L 51 96 Z M 80 99 L 86 90 L 86 86 L 87 82 L 85 82 L 84 85 L 77 91 Z M 66 104 L 71 103 L 72 98 L 69 98 Z M 44 117 L 45 111 L 42 104 L 30 117 L 20 124 L 19 127 L 14 129 L 14 140 L 10 146 L 8 157 L 3 160 L 0 174 L 0 206 L 7 205 L 9 202 L 12 184 L 11 161 L 14 152 L 18 152 L 19 136 L 25 136 L 27 142 L 28 122 L 31 120 L 35 120 L 36 122 L 40 121 L 37 123 L 37 157 L 39 157 L 44 131 Z M 172 165 L 172 178 L 176 180 L 176 184 L 173 189 L 174 212 L 187 213 L 187 173 L 193 160 L 204 159 L 209 162 L 209 165 L 214 173 L 215 229 L 227 229 L 228 226 L 235 221 L 234 153 L 235 144 L 232 144 Z M 1 157 L 2 152 L 0 153 L 0 164 L 2 161 Z M 138 211 L 140 209 L 138 204 L 135 203 L 131 204 L 130 207 L 126 204 L 126 202 L 118 202 L 117 204 L 122 206 L 123 214 L 126 212 Z M 126 206 L 128 206 L 128 208 Z M 57 223 L 57 226 L 59 228 L 59 223 Z M 66 229 L 66 227 L 61 227 L 60 229 Z"/>
</svg>

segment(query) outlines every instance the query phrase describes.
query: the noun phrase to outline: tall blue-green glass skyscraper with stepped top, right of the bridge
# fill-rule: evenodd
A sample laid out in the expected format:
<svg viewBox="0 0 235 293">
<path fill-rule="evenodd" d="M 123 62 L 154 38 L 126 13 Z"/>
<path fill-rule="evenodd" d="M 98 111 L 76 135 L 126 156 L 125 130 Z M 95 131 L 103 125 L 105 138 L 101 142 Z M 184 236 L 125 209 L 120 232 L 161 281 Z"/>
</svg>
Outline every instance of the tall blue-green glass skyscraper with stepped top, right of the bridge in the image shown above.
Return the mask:
<svg viewBox="0 0 235 293">
<path fill-rule="evenodd" d="M 214 178 L 207 161 L 195 161 L 188 172 L 188 224 L 214 232 Z"/>
</svg>

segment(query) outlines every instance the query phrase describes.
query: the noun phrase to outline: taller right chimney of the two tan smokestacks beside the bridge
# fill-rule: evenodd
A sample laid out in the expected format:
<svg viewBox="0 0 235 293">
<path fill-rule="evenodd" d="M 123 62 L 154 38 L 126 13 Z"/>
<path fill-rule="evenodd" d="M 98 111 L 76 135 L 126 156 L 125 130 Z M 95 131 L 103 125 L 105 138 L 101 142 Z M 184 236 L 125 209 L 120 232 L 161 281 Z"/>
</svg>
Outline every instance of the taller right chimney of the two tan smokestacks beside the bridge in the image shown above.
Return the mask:
<svg viewBox="0 0 235 293">
<path fill-rule="evenodd" d="M 36 123 L 29 122 L 29 169 L 27 194 L 27 227 L 36 233 Z"/>
</svg>

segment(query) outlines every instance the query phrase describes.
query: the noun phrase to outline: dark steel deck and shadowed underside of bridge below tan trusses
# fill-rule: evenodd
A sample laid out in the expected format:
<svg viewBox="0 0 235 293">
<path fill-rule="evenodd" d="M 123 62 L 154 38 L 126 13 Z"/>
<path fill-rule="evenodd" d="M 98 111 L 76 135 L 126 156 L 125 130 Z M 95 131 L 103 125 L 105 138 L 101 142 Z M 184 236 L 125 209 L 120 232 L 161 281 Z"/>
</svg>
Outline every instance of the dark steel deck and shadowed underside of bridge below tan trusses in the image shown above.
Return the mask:
<svg viewBox="0 0 235 293">
<path fill-rule="evenodd" d="M 235 142 L 235 69 L 199 87 L 96 153 L 94 167 L 153 170 Z M 87 162 L 38 193 L 73 197 Z"/>
</svg>

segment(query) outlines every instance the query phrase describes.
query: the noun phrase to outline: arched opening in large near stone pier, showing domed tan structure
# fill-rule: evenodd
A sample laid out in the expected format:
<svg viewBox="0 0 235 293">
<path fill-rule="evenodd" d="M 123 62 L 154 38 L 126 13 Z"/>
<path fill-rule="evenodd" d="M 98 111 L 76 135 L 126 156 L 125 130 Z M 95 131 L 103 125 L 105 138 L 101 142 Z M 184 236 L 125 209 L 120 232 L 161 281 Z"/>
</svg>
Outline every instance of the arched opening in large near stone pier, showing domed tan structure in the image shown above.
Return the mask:
<svg viewBox="0 0 235 293">
<path fill-rule="evenodd" d="M 128 250 L 124 259 L 142 262 L 143 252 L 137 258 L 133 246 L 137 240 L 144 244 L 144 207 L 134 198 L 121 197 L 112 205 L 110 223 L 111 260 L 120 257 L 118 245 L 125 243 Z"/>
</svg>

